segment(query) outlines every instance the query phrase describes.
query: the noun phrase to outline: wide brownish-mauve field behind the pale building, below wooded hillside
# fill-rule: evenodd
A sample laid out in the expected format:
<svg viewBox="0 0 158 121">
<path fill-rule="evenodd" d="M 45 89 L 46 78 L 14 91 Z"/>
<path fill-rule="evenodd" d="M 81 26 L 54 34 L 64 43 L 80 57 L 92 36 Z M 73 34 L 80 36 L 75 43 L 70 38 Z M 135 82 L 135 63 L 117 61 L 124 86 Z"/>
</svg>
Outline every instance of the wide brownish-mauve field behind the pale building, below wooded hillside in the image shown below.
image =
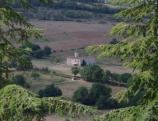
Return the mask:
<svg viewBox="0 0 158 121">
<path fill-rule="evenodd" d="M 53 50 L 70 50 L 88 45 L 99 45 L 111 41 L 112 36 L 106 36 L 115 23 L 81 23 L 62 21 L 31 21 L 36 27 L 44 29 L 48 41 L 37 42 L 50 46 Z"/>
</svg>

